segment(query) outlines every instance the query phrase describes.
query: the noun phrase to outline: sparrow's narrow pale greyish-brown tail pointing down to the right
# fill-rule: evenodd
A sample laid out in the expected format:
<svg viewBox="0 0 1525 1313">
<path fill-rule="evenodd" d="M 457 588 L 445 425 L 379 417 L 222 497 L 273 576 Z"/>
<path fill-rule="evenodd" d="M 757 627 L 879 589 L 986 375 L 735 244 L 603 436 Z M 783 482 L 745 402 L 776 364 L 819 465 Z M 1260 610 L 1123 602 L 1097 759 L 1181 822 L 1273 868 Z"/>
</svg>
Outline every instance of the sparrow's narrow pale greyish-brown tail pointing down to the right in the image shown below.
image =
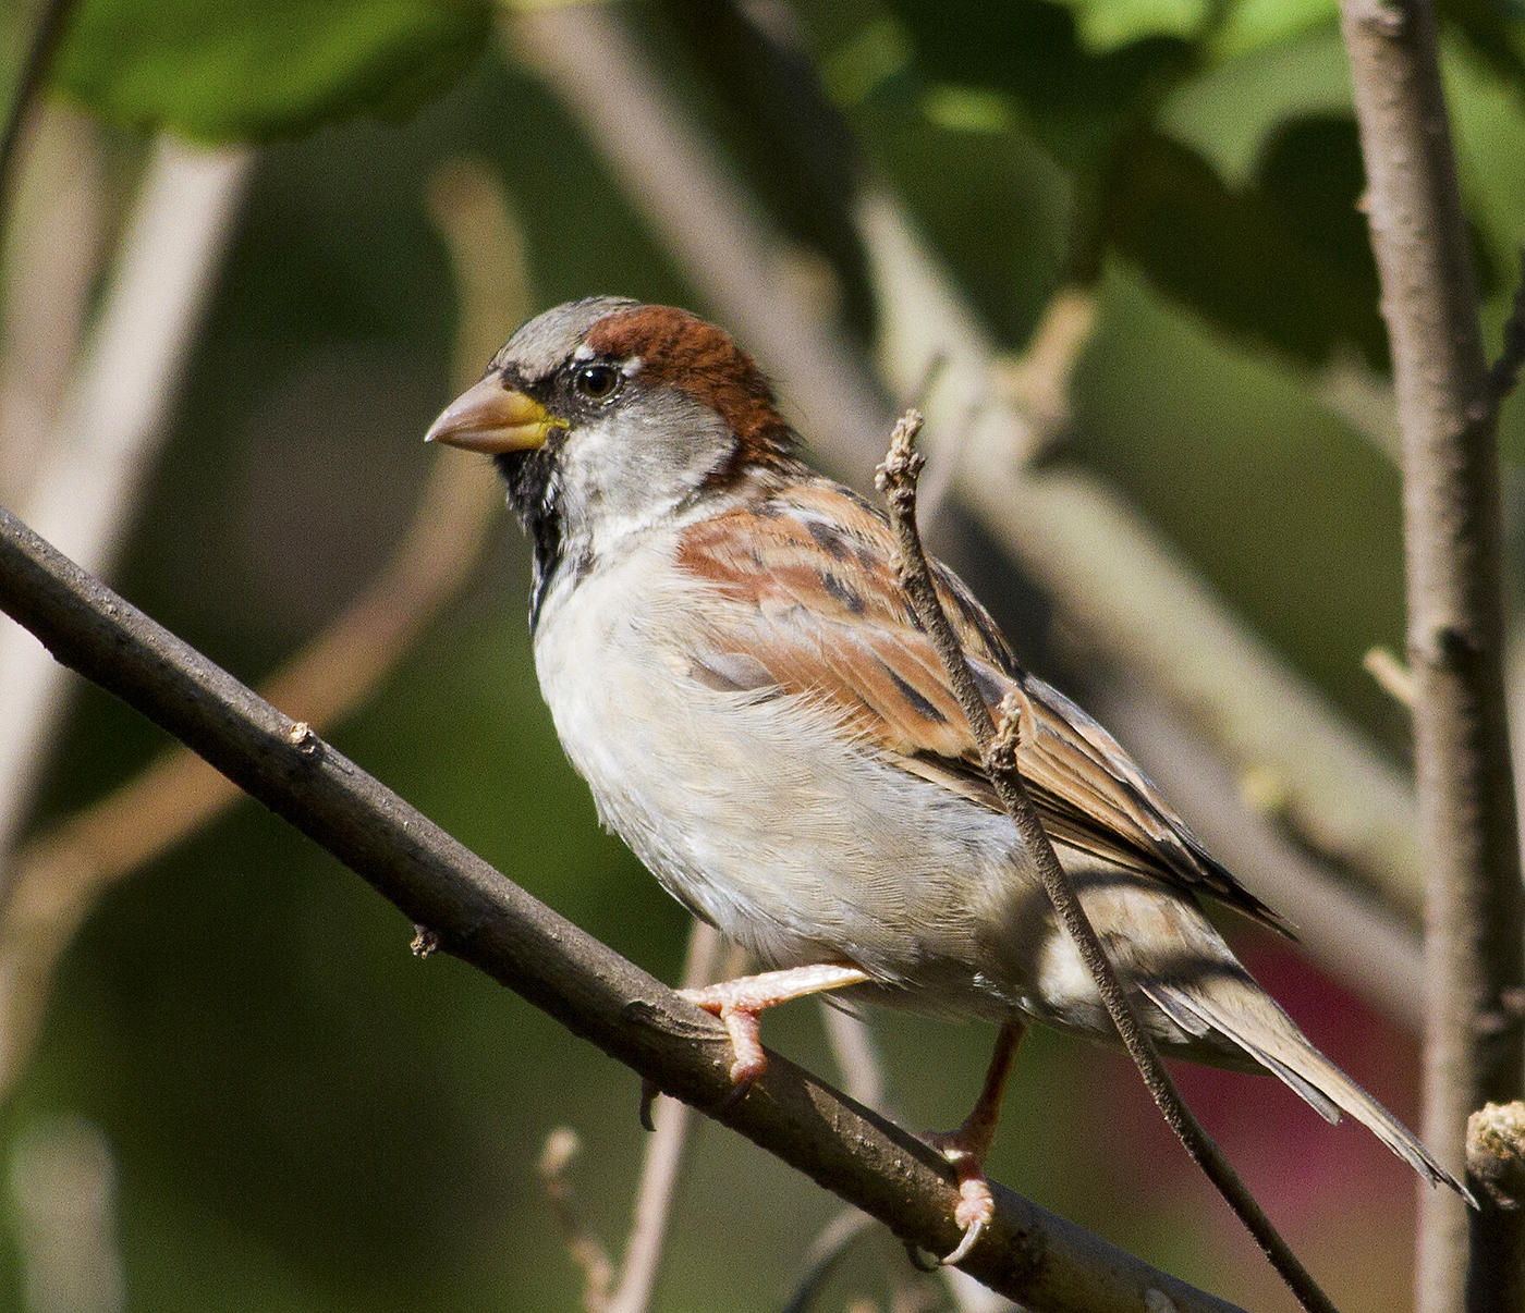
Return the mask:
<svg viewBox="0 0 1525 1313">
<path fill-rule="evenodd" d="M 1476 1206 L 1472 1193 L 1443 1168 L 1418 1138 L 1321 1054 L 1276 1002 L 1246 973 L 1215 976 L 1211 991 L 1162 981 L 1139 990 L 1170 1020 L 1196 1037 L 1222 1037 L 1279 1077 L 1331 1122 L 1348 1113 L 1420 1176 L 1449 1185 Z"/>
</svg>

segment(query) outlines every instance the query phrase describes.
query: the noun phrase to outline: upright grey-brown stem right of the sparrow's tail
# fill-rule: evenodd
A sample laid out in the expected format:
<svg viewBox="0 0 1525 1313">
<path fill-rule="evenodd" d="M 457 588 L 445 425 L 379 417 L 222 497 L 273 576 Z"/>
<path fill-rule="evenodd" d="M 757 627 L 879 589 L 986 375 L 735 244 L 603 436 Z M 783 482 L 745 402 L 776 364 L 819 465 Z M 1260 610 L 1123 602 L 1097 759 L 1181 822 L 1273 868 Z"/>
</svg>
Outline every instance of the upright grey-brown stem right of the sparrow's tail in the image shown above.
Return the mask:
<svg viewBox="0 0 1525 1313">
<path fill-rule="evenodd" d="M 1522 897 L 1504 715 L 1498 395 L 1478 325 L 1456 166 L 1417 0 L 1344 0 L 1371 241 L 1403 430 L 1403 528 L 1420 842 L 1429 872 L 1424 1138 L 1466 1167 L 1467 1115 L 1520 1089 Z M 1443 1197 L 1444 1196 L 1444 1197 Z M 1418 1307 L 1520 1307 L 1525 1217 L 1420 1212 Z"/>
</svg>

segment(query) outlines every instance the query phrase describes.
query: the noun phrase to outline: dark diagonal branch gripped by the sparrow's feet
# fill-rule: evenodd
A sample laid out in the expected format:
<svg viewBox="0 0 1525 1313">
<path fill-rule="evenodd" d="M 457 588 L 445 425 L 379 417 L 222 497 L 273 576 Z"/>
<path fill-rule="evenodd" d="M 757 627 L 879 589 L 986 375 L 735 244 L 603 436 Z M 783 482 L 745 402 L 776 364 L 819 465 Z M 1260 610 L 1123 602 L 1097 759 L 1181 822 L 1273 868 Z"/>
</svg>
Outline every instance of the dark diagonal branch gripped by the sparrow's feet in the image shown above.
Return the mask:
<svg viewBox="0 0 1525 1313">
<path fill-rule="evenodd" d="M 958 1240 L 953 1170 L 913 1136 L 785 1058 L 732 1096 L 720 1022 L 531 898 L 425 816 L 63 558 L 0 508 L 0 610 L 53 656 L 206 756 L 395 903 L 453 953 L 668 1093 L 790 1162 L 904 1241 Z M 965 1269 L 1048 1313 L 1231 1305 L 1148 1267 L 1008 1189 Z M 1157 1295 L 1150 1295 L 1157 1292 Z"/>
</svg>

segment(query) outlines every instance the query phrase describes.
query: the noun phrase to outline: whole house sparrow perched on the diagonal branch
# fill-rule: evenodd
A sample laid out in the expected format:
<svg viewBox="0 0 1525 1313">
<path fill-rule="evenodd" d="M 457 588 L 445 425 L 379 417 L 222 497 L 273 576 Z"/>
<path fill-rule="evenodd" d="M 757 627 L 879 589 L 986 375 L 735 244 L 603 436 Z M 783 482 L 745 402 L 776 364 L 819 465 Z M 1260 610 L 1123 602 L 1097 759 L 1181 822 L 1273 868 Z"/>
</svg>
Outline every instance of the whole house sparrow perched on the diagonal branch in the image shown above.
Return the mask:
<svg viewBox="0 0 1525 1313">
<path fill-rule="evenodd" d="M 1116 1031 L 981 769 L 895 581 L 883 515 L 798 456 L 723 329 L 618 297 L 532 319 L 429 441 L 491 453 L 534 543 L 529 624 L 557 732 L 619 834 L 694 915 L 776 970 L 689 991 L 732 1037 L 822 990 L 1002 1023 L 974 1113 L 935 1142 L 961 1179 L 962 1257 L 991 1212 L 982 1161 L 1028 1019 Z M 1159 1048 L 1269 1071 L 1461 1186 L 1334 1067 L 1209 924 L 1199 895 L 1286 929 L 1095 720 L 1023 671 L 947 567 L 944 608 Z"/>
</svg>

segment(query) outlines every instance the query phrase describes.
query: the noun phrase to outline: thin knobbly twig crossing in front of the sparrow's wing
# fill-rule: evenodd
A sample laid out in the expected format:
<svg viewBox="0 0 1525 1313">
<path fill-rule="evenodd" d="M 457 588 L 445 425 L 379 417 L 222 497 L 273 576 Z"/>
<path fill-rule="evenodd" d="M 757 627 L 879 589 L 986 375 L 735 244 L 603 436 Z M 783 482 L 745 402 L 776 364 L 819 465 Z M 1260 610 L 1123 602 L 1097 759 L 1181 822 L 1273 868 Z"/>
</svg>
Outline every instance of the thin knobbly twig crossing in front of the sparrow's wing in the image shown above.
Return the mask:
<svg viewBox="0 0 1525 1313">
<path fill-rule="evenodd" d="M 1008 694 L 999 708 L 999 723 L 991 720 L 990 708 L 979 692 L 974 673 L 968 666 L 958 636 L 942 612 L 936 586 L 932 583 L 932 570 L 927 566 L 926 554 L 921 549 L 921 535 L 917 532 L 917 476 L 921 473 L 921 456 L 915 450 L 917 433 L 921 429 L 921 415 L 907 410 L 895 425 L 889 441 L 889 454 L 880 465 L 878 483 L 889 505 L 889 518 L 895 531 L 895 546 L 898 551 L 898 576 L 921 628 L 926 631 L 938 657 L 947 671 L 949 682 L 958 703 L 964 711 L 968 727 L 979 744 L 985 773 L 990 776 L 1002 807 L 1017 828 L 1022 848 L 1043 881 L 1043 889 L 1054 904 L 1090 979 L 1101 996 L 1101 1002 L 1118 1029 L 1124 1049 L 1133 1058 L 1144 1084 L 1159 1107 L 1167 1124 L 1180 1138 L 1186 1153 L 1206 1173 L 1218 1193 L 1234 1209 L 1244 1228 L 1255 1237 L 1255 1241 L 1266 1252 L 1272 1266 L 1296 1295 L 1298 1302 L 1307 1310 L 1324 1310 L 1333 1313 L 1334 1305 L 1328 1296 L 1319 1290 L 1318 1284 L 1298 1261 L 1296 1255 L 1270 1225 L 1255 1197 L 1249 1193 L 1238 1174 L 1229 1167 L 1202 1124 L 1186 1107 L 1174 1081 L 1165 1071 L 1159 1054 L 1154 1049 L 1148 1032 L 1139 1022 L 1122 982 L 1107 959 L 1096 935 L 1086 915 L 1080 898 L 1075 895 L 1054 854 L 1043 822 L 1028 798 L 1017 767 L 1017 735 L 1022 730 L 1022 701 L 1014 694 Z M 1028 712 L 1031 717 L 1031 712 Z"/>
</svg>

